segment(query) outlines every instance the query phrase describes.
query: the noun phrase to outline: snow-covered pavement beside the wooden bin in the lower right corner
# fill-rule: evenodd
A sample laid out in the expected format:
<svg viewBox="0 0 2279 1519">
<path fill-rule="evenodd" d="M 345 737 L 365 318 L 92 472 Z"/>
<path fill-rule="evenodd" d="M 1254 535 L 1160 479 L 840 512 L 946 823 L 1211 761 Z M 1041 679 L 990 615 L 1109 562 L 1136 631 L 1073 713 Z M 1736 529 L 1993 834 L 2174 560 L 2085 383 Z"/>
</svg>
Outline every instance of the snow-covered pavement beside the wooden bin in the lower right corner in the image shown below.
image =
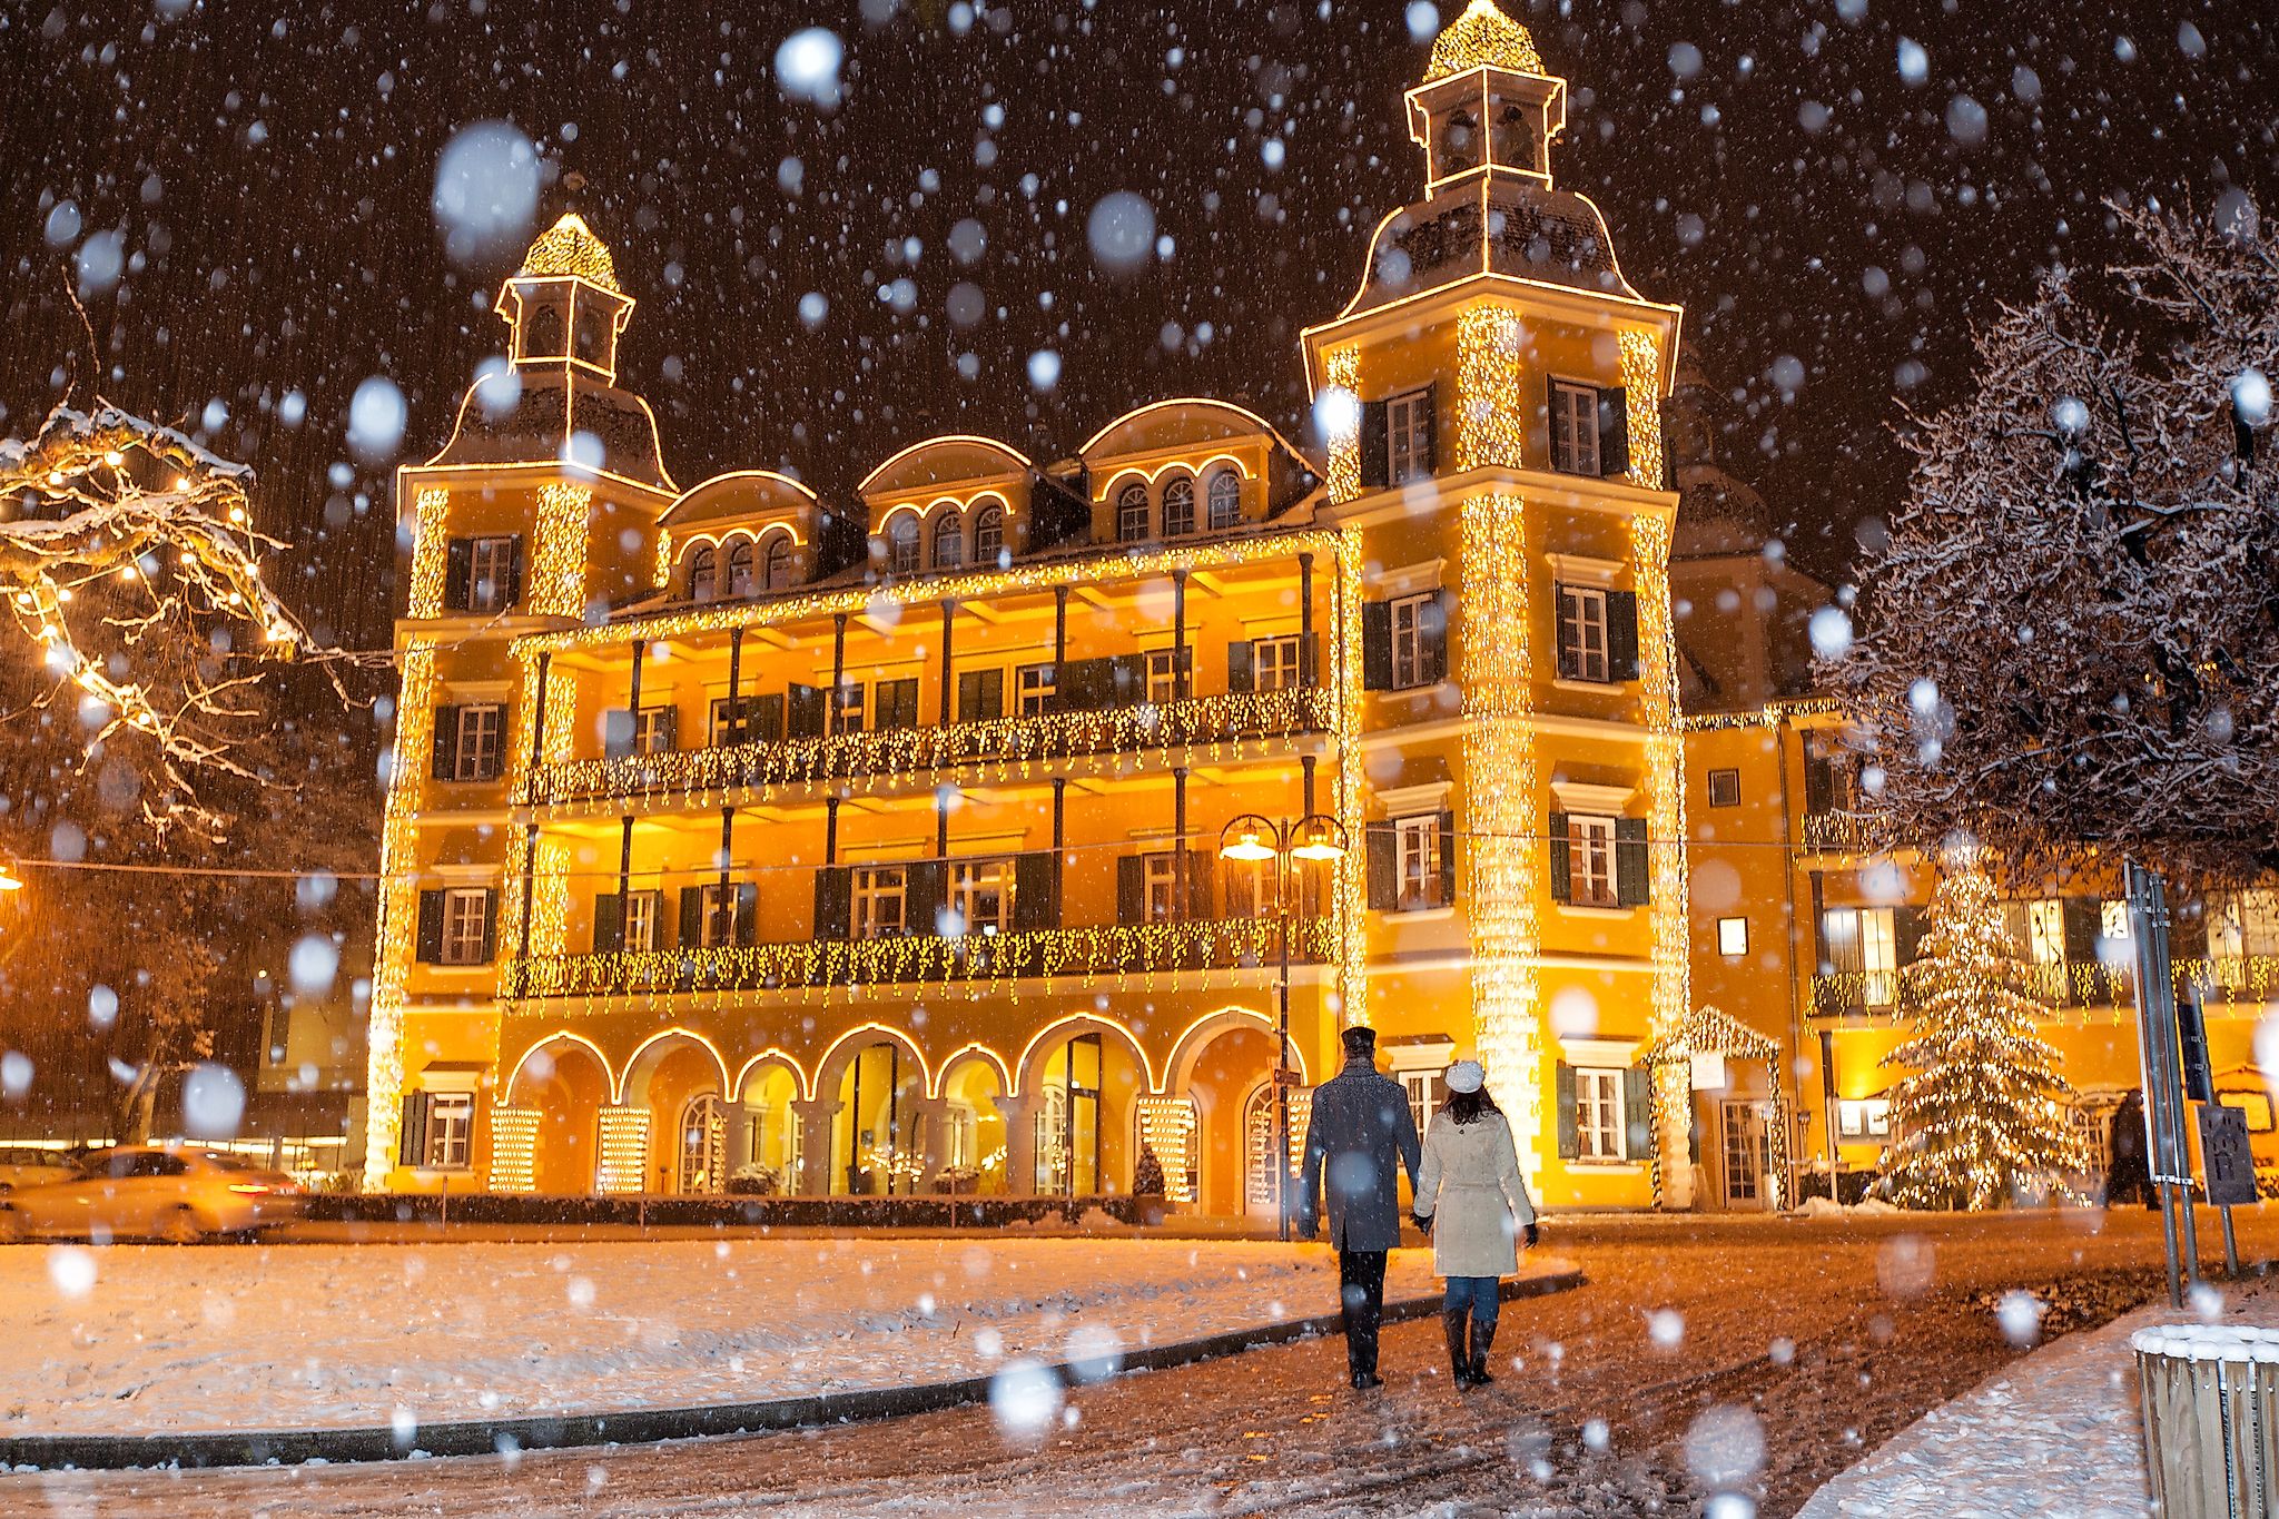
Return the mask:
<svg viewBox="0 0 2279 1519">
<path fill-rule="evenodd" d="M 2165 1300 L 2067 1335 L 1917 1419 L 1828 1483 L 1798 1519 L 2149 1519 L 2129 1335 L 2156 1323 L 2279 1325 L 2279 1294 Z"/>
</svg>

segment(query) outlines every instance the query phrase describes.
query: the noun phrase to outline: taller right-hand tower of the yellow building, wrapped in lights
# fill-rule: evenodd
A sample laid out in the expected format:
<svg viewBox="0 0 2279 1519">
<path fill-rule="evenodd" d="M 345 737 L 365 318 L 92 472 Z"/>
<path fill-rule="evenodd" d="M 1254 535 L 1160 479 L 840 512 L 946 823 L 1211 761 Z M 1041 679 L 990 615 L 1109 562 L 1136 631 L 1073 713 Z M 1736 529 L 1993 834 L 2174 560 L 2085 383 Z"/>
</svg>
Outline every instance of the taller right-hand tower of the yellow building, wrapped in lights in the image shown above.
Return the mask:
<svg viewBox="0 0 2279 1519">
<path fill-rule="evenodd" d="M 1684 1207 L 1659 424 L 1682 314 L 1632 289 L 1598 207 L 1559 187 L 1566 80 L 1493 0 L 1406 102 L 1422 196 L 1304 335 L 1365 649 L 1345 781 L 1370 859 L 1347 890 L 1377 911 L 1347 947 L 1367 988 L 1347 1018 L 1381 1045 L 1468 1027 L 1552 1200 Z M 1406 890 L 1429 875 L 1452 900 Z"/>
</svg>

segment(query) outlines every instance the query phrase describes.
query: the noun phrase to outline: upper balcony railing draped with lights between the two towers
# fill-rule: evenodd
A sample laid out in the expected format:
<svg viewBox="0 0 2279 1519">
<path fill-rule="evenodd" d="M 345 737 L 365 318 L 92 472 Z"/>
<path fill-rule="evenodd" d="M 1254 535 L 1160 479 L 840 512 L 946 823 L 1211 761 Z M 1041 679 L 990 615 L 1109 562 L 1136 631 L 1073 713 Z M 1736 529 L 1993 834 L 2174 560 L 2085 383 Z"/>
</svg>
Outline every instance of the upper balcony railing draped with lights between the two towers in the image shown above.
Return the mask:
<svg viewBox="0 0 2279 1519">
<path fill-rule="evenodd" d="M 1103 711 L 665 749 L 542 765 L 522 783 L 517 802 L 547 806 L 588 797 L 763 790 L 971 767 L 1012 779 L 1037 763 L 1135 749 L 1183 749 L 1187 763 L 1212 763 L 1240 758 L 1244 745 L 1322 733 L 1333 713 L 1331 692 L 1285 688 L 1160 706 L 1142 701 Z"/>
</svg>

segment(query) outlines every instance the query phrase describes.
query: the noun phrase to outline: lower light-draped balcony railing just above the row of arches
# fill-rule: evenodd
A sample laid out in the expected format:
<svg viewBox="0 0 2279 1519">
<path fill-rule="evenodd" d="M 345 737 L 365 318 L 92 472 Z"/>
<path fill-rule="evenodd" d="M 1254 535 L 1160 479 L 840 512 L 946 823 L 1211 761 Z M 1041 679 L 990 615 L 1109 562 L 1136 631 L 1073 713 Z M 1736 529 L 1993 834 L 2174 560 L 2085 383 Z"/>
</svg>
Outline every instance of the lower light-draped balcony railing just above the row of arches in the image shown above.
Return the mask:
<svg viewBox="0 0 2279 1519">
<path fill-rule="evenodd" d="M 1292 963 L 1326 961 L 1333 938 L 1326 918 L 1292 918 Z M 499 975 L 499 995 L 508 1000 L 638 997 L 800 986 L 1094 979 L 1272 968 L 1279 954 L 1276 918 L 1194 918 L 964 934 L 959 938 L 896 936 L 704 950 L 533 954 L 506 961 Z"/>
</svg>

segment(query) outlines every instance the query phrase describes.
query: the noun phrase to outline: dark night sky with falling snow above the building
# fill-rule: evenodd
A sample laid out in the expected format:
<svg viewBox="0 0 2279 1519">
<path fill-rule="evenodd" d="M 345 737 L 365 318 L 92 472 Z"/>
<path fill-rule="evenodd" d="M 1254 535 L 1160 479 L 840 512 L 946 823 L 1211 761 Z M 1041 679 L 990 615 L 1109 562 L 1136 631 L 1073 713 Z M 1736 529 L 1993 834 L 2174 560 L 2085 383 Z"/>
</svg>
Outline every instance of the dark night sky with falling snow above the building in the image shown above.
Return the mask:
<svg viewBox="0 0 2279 1519">
<path fill-rule="evenodd" d="M 1825 574 L 1903 487 L 1901 403 L 1951 399 L 1971 321 L 2037 269 L 2113 253 L 2104 198 L 2272 203 L 2279 41 L 2252 5 L 1511 9 L 1573 84 L 1563 182 L 1629 280 L 1686 305 L 1691 358 L 1739 392 L 1727 467 Z M 344 465 L 349 396 L 394 380 L 424 455 L 497 353 L 483 307 L 526 232 L 454 257 L 431 198 L 454 134 L 508 121 L 542 159 L 538 223 L 581 210 L 640 298 L 624 383 L 681 485 L 773 465 L 846 501 L 934 430 L 1060 458 L 1185 392 L 1310 440 L 1297 330 L 1420 189 L 1415 11 L 16 0 L 0 430 L 34 428 L 84 355 L 64 282 L 116 235 L 89 253 L 107 394 L 212 417 L 299 544 L 312 615 L 383 644 L 387 471 Z M 777 46 L 809 25 L 846 46 L 834 105 L 779 89 Z M 1149 203 L 1167 257 L 1101 266 L 1087 219 L 1112 191 Z"/>
</svg>

